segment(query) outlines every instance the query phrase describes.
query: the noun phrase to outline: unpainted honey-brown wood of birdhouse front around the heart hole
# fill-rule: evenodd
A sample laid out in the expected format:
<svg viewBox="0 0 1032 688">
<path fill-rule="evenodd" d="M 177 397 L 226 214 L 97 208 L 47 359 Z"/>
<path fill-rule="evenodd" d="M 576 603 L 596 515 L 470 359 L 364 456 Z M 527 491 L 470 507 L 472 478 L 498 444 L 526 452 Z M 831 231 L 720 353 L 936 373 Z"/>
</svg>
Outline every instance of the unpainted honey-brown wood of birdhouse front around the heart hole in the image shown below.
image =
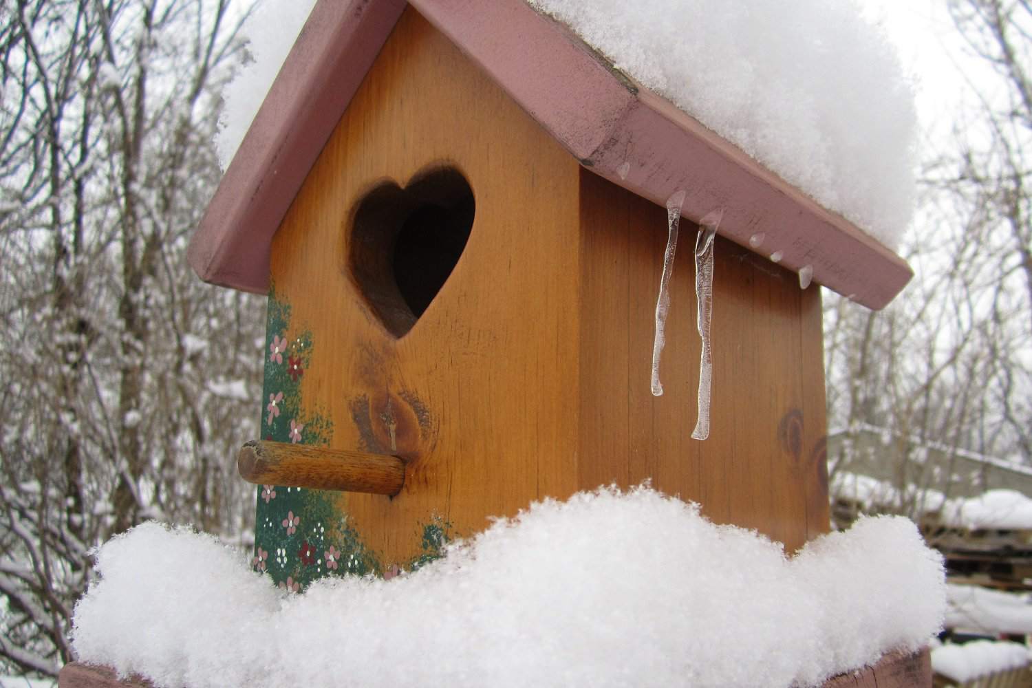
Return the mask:
<svg viewBox="0 0 1032 688">
<path fill-rule="evenodd" d="M 469 181 L 476 217 L 451 276 L 396 339 L 346 269 L 350 214 L 376 184 L 439 165 Z M 434 515 L 472 534 L 575 489 L 578 169 L 410 8 L 276 236 L 278 296 L 326 342 L 302 395 L 332 418 L 332 446 L 387 453 L 388 401 L 418 438 L 397 496 L 341 498 L 385 562 L 416 554 Z"/>
</svg>

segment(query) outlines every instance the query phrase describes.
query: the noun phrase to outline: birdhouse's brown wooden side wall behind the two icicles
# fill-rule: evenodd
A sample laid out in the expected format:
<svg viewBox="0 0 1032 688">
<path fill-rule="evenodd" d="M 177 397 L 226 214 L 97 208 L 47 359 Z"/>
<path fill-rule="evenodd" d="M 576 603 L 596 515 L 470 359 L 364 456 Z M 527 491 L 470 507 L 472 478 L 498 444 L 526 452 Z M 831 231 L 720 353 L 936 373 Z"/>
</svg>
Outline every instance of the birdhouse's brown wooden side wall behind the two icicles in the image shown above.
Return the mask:
<svg viewBox="0 0 1032 688">
<path fill-rule="evenodd" d="M 660 365 L 665 394 L 652 397 L 667 211 L 585 171 L 581 223 L 578 486 L 650 479 L 699 501 L 713 520 L 756 528 L 789 551 L 826 531 L 827 487 L 809 463 L 825 432 L 817 290 L 800 290 L 795 273 L 717 238 L 712 429 L 709 439 L 695 440 L 697 227 L 682 221 Z"/>
</svg>

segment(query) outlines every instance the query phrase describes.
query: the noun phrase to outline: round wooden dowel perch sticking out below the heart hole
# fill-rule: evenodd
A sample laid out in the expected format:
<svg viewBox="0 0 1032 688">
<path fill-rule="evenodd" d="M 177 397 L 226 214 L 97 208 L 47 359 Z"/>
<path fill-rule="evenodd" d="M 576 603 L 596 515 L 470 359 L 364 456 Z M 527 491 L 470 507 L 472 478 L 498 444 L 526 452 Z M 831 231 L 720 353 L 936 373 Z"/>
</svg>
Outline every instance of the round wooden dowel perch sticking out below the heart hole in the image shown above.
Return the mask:
<svg viewBox="0 0 1032 688">
<path fill-rule="evenodd" d="M 253 440 L 236 457 L 240 478 L 255 485 L 285 485 L 393 496 L 405 485 L 396 456 Z"/>
</svg>

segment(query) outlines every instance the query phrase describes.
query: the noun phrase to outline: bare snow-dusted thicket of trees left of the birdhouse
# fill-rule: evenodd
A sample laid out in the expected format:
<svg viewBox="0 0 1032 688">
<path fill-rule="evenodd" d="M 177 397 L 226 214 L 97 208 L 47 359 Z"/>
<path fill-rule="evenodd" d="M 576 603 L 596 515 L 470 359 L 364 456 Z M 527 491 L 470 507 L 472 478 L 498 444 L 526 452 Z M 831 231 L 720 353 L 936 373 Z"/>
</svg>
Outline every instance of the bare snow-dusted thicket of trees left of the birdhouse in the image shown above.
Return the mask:
<svg viewBox="0 0 1032 688">
<path fill-rule="evenodd" d="M 229 0 L 0 3 L 0 670 L 70 659 L 89 550 L 147 518 L 240 536 L 262 304 L 189 235 L 243 55 Z"/>
</svg>

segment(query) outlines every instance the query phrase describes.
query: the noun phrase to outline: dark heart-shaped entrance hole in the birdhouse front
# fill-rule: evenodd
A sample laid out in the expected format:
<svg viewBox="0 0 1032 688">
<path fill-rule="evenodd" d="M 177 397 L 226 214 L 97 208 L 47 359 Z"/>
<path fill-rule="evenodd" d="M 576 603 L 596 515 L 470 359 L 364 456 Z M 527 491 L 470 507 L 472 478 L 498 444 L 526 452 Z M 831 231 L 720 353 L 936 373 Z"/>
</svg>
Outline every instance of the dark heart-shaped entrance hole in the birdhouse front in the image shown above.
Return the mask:
<svg viewBox="0 0 1032 688">
<path fill-rule="evenodd" d="M 349 262 L 373 312 L 395 337 L 412 329 L 444 287 L 473 228 L 473 190 L 438 168 L 401 189 L 385 182 L 355 208 Z"/>
</svg>

